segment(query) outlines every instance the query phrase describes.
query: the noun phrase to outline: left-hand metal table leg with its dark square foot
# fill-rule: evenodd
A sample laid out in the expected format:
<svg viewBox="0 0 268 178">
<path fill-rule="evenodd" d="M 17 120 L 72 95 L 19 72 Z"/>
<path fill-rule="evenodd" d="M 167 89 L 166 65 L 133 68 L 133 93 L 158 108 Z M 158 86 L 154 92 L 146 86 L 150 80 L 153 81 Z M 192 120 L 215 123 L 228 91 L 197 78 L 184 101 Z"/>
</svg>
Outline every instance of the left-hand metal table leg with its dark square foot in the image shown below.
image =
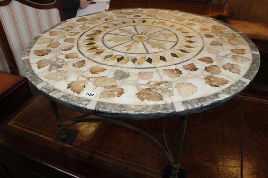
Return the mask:
<svg viewBox="0 0 268 178">
<path fill-rule="evenodd" d="M 72 129 L 66 129 L 63 127 L 62 121 L 60 119 L 60 116 L 57 110 L 57 105 L 54 101 L 51 101 L 51 103 L 52 103 L 52 107 L 56 116 L 57 127 L 59 129 L 59 133 L 57 137 L 55 138 L 55 141 L 71 145 L 73 141 L 75 140 L 78 134 L 78 131 L 72 130 Z"/>
</svg>

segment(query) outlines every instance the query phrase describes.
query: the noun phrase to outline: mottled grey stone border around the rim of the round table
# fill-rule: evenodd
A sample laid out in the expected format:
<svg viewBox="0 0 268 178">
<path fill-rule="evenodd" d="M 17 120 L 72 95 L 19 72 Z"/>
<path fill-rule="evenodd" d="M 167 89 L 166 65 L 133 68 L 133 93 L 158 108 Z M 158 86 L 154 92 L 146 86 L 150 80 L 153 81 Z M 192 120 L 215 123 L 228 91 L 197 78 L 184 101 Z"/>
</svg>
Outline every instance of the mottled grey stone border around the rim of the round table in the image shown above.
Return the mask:
<svg viewBox="0 0 268 178">
<path fill-rule="evenodd" d="M 138 8 L 127 8 L 127 9 L 138 9 Z M 151 9 L 151 8 L 143 8 L 143 9 Z M 156 8 L 153 8 L 156 9 Z M 119 10 L 119 9 L 113 9 Z M 123 10 L 123 9 L 121 9 Z M 171 10 L 171 9 L 166 9 Z M 174 10 L 175 11 L 175 10 Z M 178 10 L 176 10 L 178 11 Z M 180 11 L 184 12 L 184 11 Z M 186 12 L 189 13 L 189 12 Z M 95 13 L 93 13 L 95 14 Z M 195 13 L 189 13 L 198 15 Z M 100 116 L 108 116 L 115 118 L 132 118 L 132 119 L 153 119 L 153 118 L 161 118 L 161 117 L 172 117 L 172 116 L 180 116 L 187 115 L 192 113 L 199 113 L 205 110 L 208 110 L 212 107 L 218 106 L 231 98 L 238 95 L 242 92 L 250 82 L 253 81 L 255 75 L 258 72 L 260 66 L 260 55 L 255 44 L 246 36 L 244 33 L 234 29 L 232 26 L 213 19 L 211 17 L 202 16 L 205 18 L 209 18 L 211 20 L 217 21 L 225 26 L 230 27 L 232 30 L 240 34 L 249 44 L 252 51 L 252 63 L 249 67 L 247 73 L 237 82 L 225 88 L 219 93 L 214 93 L 205 97 L 200 97 L 196 99 L 191 99 L 187 101 L 174 102 L 169 104 L 159 104 L 159 105 L 123 105 L 123 104 L 113 104 L 113 103 L 105 103 L 96 100 L 89 100 L 87 98 L 76 97 L 74 95 L 67 94 L 62 92 L 50 85 L 48 85 L 45 81 L 40 79 L 32 70 L 32 67 L 29 62 L 29 54 L 31 48 L 34 46 L 35 42 L 42 36 L 42 34 L 48 32 L 49 30 L 57 27 L 58 25 L 65 23 L 66 21 L 60 22 L 57 25 L 47 29 L 42 32 L 34 39 L 32 39 L 28 45 L 28 47 L 24 50 L 22 55 L 23 62 L 23 70 L 26 73 L 26 77 L 29 81 L 38 89 L 40 93 L 44 96 L 49 97 L 51 100 L 56 101 L 68 108 L 75 109 L 77 111 L 83 113 L 90 113 Z M 68 21 L 68 20 L 67 20 Z M 95 108 L 90 107 L 95 106 Z M 177 109 L 176 109 L 177 108 Z"/>
</svg>

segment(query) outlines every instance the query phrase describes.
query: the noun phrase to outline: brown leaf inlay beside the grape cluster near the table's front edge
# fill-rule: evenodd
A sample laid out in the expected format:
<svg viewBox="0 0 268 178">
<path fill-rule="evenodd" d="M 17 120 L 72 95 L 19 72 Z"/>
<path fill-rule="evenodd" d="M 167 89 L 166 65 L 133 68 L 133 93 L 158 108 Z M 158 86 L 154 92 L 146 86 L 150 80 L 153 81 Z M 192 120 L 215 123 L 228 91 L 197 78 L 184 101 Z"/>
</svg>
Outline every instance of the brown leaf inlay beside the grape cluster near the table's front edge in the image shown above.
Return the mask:
<svg viewBox="0 0 268 178">
<path fill-rule="evenodd" d="M 162 101 L 162 96 L 155 91 L 152 91 L 151 88 L 141 89 L 140 92 L 136 93 L 139 100 L 144 101 Z"/>
</svg>

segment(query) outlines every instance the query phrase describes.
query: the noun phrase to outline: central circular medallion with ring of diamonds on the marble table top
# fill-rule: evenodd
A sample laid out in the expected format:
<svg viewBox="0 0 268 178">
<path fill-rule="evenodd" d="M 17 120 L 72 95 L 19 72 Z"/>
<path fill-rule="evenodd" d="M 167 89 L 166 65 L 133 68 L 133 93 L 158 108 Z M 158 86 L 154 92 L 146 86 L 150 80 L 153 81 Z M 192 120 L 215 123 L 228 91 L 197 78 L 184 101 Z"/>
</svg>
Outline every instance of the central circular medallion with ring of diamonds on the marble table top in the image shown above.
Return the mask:
<svg viewBox="0 0 268 178">
<path fill-rule="evenodd" d="M 199 33 L 177 22 L 123 19 L 91 28 L 77 46 L 83 56 L 102 65 L 155 68 L 190 60 L 203 43 Z"/>
</svg>

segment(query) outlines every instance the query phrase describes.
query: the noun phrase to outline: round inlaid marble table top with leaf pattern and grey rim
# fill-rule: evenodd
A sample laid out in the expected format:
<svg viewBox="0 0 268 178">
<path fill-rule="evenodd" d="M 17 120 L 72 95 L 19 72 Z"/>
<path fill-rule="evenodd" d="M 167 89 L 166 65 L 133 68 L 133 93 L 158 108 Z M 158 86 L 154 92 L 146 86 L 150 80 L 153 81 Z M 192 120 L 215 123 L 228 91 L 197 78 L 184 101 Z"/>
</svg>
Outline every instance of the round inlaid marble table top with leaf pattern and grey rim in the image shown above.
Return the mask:
<svg viewBox="0 0 268 178">
<path fill-rule="evenodd" d="M 260 65 L 249 38 L 222 22 L 141 8 L 57 24 L 31 41 L 22 60 L 52 99 L 130 118 L 208 109 L 243 90 Z"/>
</svg>

